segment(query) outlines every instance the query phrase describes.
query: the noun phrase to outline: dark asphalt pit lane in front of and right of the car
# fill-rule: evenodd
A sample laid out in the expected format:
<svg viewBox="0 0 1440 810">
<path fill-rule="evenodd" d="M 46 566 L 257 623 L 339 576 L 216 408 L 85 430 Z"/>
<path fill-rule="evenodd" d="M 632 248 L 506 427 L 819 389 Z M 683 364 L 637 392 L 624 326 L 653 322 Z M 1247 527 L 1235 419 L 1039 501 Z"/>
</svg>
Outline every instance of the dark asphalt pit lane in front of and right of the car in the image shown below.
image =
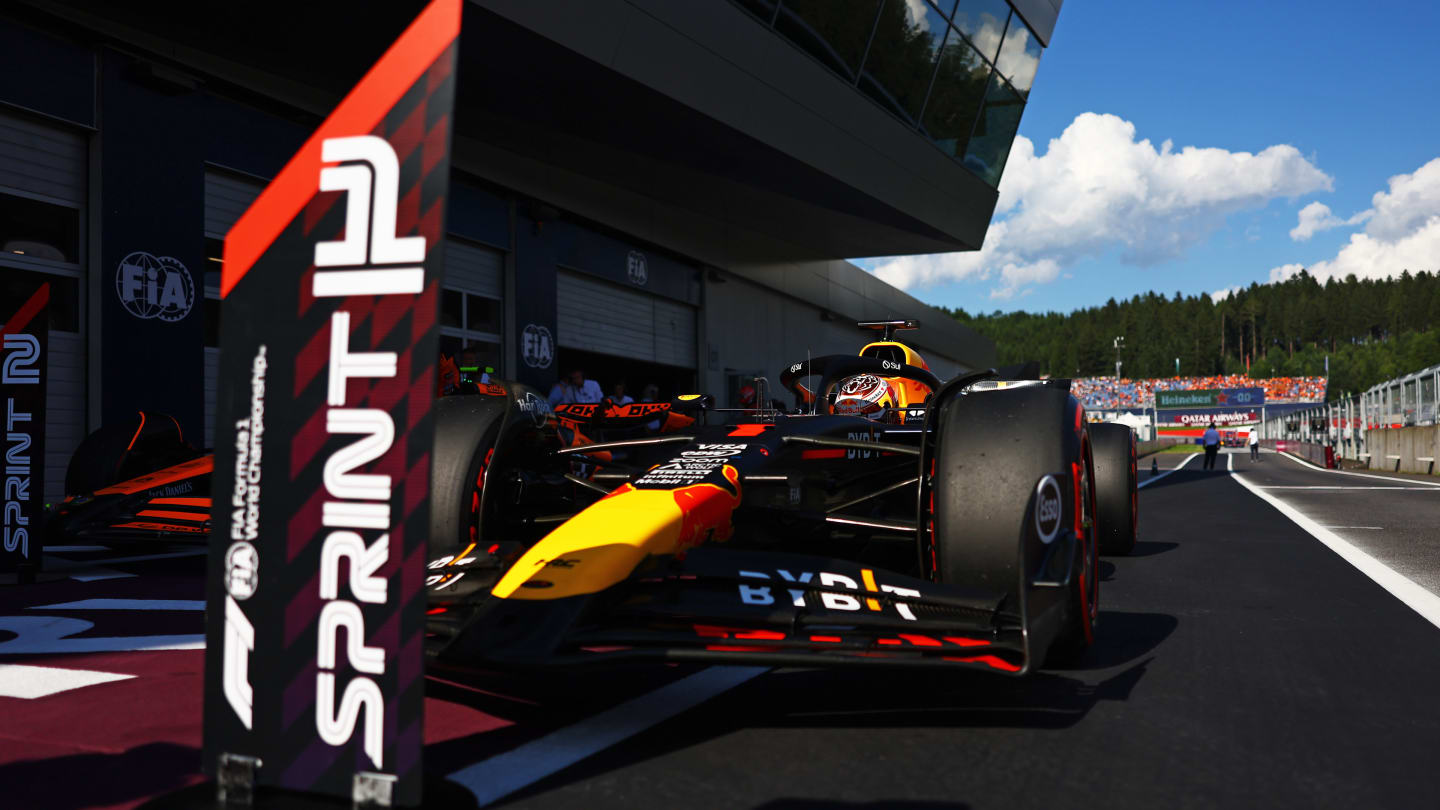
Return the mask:
<svg viewBox="0 0 1440 810">
<path fill-rule="evenodd" d="M 1440 806 L 1440 628 L 1224 458 L 1198 463 L 1142 490 L 1142 540 L 1103 562 L 1100 640 L 1077 669 L 776 670 L 501 806 Z M 1273 486 L 1331 480 L 1236 463 Z M 1440 517 L 1421 493 L 1267 491 L 1355 525 L 1385 513 L 1387 545 Z"/>
</svg>

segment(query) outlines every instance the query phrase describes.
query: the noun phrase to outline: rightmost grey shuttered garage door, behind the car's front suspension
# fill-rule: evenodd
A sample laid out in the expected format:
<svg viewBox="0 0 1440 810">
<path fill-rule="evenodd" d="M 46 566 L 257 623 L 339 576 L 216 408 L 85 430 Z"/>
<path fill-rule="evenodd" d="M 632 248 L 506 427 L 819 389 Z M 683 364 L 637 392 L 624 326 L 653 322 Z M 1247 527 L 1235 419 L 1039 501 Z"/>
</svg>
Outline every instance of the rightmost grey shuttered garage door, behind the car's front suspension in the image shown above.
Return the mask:
<svg viewBox="0 0 1440 810">
<path fill-rule="evenodd" d="M 696 368 L 696 308 L 562 270 L 556 343 L 600 355 Z"/>
</svg>

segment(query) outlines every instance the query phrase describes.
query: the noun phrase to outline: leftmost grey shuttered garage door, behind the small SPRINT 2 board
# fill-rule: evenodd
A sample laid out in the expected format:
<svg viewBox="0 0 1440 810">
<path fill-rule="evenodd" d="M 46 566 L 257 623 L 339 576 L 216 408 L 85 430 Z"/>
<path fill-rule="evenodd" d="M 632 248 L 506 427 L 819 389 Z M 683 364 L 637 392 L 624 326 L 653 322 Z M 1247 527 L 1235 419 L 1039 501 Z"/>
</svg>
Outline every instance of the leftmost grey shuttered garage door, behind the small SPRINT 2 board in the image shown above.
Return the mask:
<svg viewBox="0 0 1440 810">
<path fill-rule="evenodd" d="M 0 111 L 0 271 L 53 278 L 46 388 L 45 499 L 85 438 L 86 137 Z"/>
</svg>

